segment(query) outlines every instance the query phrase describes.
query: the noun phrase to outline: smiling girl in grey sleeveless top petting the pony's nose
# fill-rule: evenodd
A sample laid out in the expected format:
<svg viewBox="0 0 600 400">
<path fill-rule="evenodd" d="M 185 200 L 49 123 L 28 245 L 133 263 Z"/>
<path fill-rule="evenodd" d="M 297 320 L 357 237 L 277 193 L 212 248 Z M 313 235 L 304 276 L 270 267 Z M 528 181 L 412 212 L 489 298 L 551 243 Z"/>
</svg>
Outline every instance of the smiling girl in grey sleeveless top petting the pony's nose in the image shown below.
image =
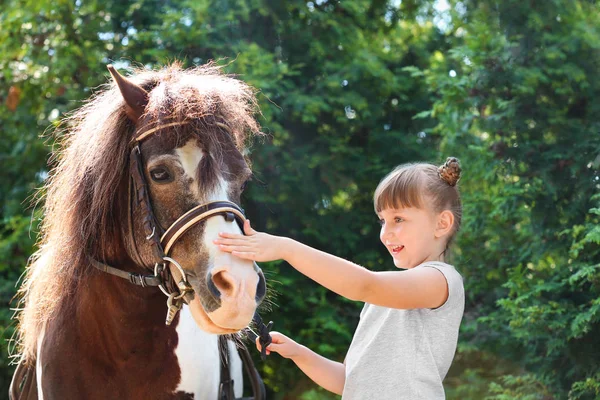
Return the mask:
<svg viewBox="0 0 600 400">
<path fill-rule="evenodd" d="M 224 251 L 254 261 L 283 259 L 317 283 L 365 303 L 344 363 L 328 360 L 281 333 L 274 351 L 344 400 L 444 399 L 464 309 L 462 278 L 444 256 L 461 221 L 460 165 L 401 165 L 375 190 L 380 239 L 404 271 L 373 272 L 285 237 L 222 233 Z M 257 347 L 260 346 L 257 343 Z"/>
</svg>

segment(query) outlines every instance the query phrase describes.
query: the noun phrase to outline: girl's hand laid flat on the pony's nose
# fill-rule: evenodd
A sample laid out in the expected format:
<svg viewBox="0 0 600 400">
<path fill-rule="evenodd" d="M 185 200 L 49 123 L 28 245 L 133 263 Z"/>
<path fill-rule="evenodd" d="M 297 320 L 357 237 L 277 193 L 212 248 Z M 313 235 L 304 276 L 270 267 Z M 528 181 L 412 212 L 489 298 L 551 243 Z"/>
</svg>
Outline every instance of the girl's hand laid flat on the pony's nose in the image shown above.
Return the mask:
<svg viewBox="0 0 600 400">
<path fill-rule="evenodd" d="M 219 233 L 219 239 L 213 241 L 223 251 L 246 260 L 265 262 L 280 260 L 282 258 L 283 238 L 256 232 L 250 226 L 250 221 L 244 222 L 244 232 L 247 236 L 238 233 Z"/>
</svg>

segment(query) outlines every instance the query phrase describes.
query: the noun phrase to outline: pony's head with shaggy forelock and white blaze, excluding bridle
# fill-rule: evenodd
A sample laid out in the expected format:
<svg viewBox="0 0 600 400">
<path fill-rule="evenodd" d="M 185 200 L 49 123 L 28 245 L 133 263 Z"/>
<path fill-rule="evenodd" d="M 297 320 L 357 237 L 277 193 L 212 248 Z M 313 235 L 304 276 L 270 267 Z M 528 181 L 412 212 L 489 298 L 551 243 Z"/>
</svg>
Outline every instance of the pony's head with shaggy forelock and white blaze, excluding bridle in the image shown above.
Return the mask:
<svg viewBox="0 0 600 400">
<path fill-rule="evenodd" d="M 244 155 L 245 131 L 257 130 L 248 114 L 249 102 L 254 103 L 248 86 L 219 73 L 190 76 L 172 69 L 150 79 L 143 73 L 127 79 L 109 70 L 116 84 L 113 90 L 121 93 L 120 108 L 129 120 L 135 150 L 141 154 L 158 230 L 164 232 L 186 212 L 207 203 L 239 204 L 252 175 Z M 133 186 L 130 196 L 136 196 Z M 131 203 L 128 209 L 122 231 L 127 252 L 136 264 L 151 266 L 147 212 Z M 218 334 L 246 327 L 265 296 L 264 276 L 254 262 L 213 244 L 219 232 L 241 233 L 239 225 L 217 214 L 182 232 L 168 255 L 194 289 L 189 306 L 196 323 Z"/>
</svg>

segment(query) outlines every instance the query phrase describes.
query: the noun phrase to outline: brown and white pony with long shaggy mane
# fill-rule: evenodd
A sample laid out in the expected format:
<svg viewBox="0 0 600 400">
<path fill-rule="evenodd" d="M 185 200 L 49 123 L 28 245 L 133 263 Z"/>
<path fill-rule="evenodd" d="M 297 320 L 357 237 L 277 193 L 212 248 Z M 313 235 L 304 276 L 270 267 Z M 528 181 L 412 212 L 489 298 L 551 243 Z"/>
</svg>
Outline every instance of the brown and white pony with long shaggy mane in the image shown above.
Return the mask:
<svg viewBox="0 0 600 400">
<path fill-rule="evenodd" d="M 236 333 L 265 278 L 212 241 L 242 231 L 248 143 L 262 135 L 255 89 L 212 63 L 109 71 L 51 157 L 19 289 L 27 398 L 217 399 L 223 374 L 239 397 Z"/>
</svg>

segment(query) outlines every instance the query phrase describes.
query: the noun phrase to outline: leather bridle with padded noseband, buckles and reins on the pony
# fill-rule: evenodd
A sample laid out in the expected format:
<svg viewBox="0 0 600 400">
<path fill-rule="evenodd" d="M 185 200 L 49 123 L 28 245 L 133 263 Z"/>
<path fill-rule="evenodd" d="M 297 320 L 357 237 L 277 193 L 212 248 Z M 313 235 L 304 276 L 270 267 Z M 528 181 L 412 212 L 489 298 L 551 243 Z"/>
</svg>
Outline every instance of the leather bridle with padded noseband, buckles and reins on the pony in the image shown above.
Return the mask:
<svg viewBox="0 0 600 400">
<path fill-rule="evenodd" d="M 120 278 L 128 280 L 130 283 L 142 287 L 152 286 L 158 287 L 167 296 L 167 317 L 165 320 L 166 325 L 170 325 L 173 319 L 181 310 L 183 303 L 190 303 L 193 299 L 194 289 L 187 281 L 185 271 L 179 265 L 179 263 L 173 258 L 169 257 L 170 251 L 181 236 L 192 228 L 194 225 L 205 221 L 214 216 L 223 216 L 227 222 L 236 222 L 242 233 L 244 233 L 244 221 L 246 216 L 244 210 L 242 210 L 237 204 L 230 201 L 214 201 L 203 205 L 196 206 L 191 210 L 180 216 L 175 222 L 171 224 L 164 232 L 162 227 L 158 223 L 152 204 L 150 202 L 148 183 L 144 177 L 142 152 L 140 146 L 142 141 L 150 137 L 155 132 L 158 132 L 164 128 L 183 125 L 185 122 L 173 122 L 165 125 L 154 127 L 141 134 L 138 134 L 131 142 L 130 152 L 130 180 L 129 180 L 129 240 L 131 241 L 137 263 L 143 265 L 146 269 L 153 271 L 152 275 L 144 275 L 133 272 L 124 271 L 110 265 L 104 264 L 92 257 L 89 257 L 90 264 L 96 269 L 118 276 Z M 226 129 L 226 126 L 222 126 Z M 147 241 L 150 242 L 153 249 L 153 262 L 154 267 L 151 268 L 144 265 L 142 257 L 137 249 L 137 242 L 133 235 L 133 209 L 137 207 L 142 210 L 143 215 L 143 228 L 144 234 Z M 173 266 L 175 268 L 173 268 Z M 169 268 L 170 267 L 170 268 Z M 259 342 L 262 347 L 261 358 L 264 361 L 266 358 L 266 347 L 271 344 L 271 336 L 269 331 L 273 325 L 273 322 L 265 325 L 258 314 L 254 313 L 252 321 L 255 323 L 258 334 L 254 333 L 250 328 L 247 330 L 247 335 L 253 341 L 259 337 Z M 229 373 L 229 350 L 227 347 L 227 339 L 223 335 L 219 335 L 219 355 L 221 359 L 221 382 L 219 384 L 219 400 L 230 400 L 235 399 L 233 395 L 233 380 Z M 251 378 L 252 391 L 254 397 L 242 398 L 239 400 L 264 400 L 266 399 L 266 390 L 258 371 L 252 363 L 252 358 L 248 349 L 243 346 L 238 349 L 246 373 Z"/>
</svg>

